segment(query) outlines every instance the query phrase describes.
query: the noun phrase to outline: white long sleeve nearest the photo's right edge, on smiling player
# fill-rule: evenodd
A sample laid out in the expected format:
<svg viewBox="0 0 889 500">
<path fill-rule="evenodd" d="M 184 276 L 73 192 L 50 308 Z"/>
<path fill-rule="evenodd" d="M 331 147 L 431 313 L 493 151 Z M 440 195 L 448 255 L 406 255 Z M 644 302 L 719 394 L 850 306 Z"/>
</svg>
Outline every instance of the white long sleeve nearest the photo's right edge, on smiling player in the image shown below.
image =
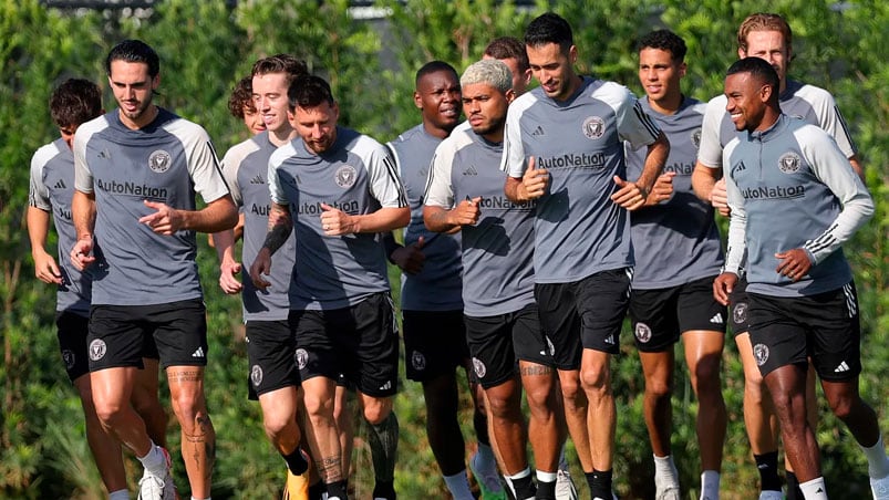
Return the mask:
<svg viewBox="0 0 889 500">
<path fill-rule="evenodd" d="M 848 158 L 826 131 L 816 126 L 803 127 L 796 134 L 810 135 L 798 140 L 815 176 L 827 186 L 841 205 L 841 210 L 827 230 L 803 246 L 821 262 L 839 249 L 874 215 L 874 199 L 855 174 Z"/>
</svg>

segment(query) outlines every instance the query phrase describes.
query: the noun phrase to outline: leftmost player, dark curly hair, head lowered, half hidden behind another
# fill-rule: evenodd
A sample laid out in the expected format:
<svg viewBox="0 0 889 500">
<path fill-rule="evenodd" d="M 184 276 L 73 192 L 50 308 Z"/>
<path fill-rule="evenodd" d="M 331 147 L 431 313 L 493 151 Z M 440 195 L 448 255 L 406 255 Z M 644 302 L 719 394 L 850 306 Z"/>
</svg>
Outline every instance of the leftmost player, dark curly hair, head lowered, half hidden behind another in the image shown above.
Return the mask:
<svg viewBox="0 0 889 500">
<path fill-rule="evenodd" d="M 74 155 L 71 145 L 81 124 L 101 115 L 102 91 L 87 80 L 69 79 L 50 96 L 50 114 L 61 137 L 42 146 L 31 158 L 31 181 L 28 206 L 28 236 L 34 259 L 37 278 L 58 287 L 55 294 L 55 324 L 59 347 L 68 376 L 83 406 L 86 423 L 86 442 L 93 452 L 99 475 L 111 500 L 127 499 L 126 475 L 121 445 L 106 434 L 93 405 L 90 384 L 86 334 L 89 332 L 92 280 L 90 274 L 75 269 L 65 251 L 74 246 L 75 232 L 71 220 L 71 197 L 74 191 Z M 52 216 L 50 216 L 52 213 Z M 52 217 L 59 235 L 59 260 L 46 251 L 46 236 Z M 157 350 L 146 343 L 144 369 L 135 375 L 131 404 L 145 420 L 148 435 L 161 446 L 166 445 L 167 415 L 157 397 Z"/>
</svg>

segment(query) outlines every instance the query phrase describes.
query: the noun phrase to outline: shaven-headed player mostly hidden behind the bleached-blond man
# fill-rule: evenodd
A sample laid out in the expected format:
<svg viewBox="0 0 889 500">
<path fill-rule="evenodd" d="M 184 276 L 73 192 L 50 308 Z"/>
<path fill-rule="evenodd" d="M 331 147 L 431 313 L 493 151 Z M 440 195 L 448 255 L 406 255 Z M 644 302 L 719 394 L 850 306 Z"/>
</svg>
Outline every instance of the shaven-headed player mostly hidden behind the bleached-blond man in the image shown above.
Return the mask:
<svg viewBox="0 0 889 500">
<path fill-rule="evenodd" d="M 414 104 L 422 123 L 386 144 L 404 184 L 411 222 L 404 230 L 404 246 L 397 244 L 391 233 L 384 241 L 389 259 L 402 270 L 402 335 L 407 378 L 423 385 L 426 436 L 445 485 L 456 500 L 467 500 L 473 494 L 457 420 L 456 377 L 456 368 L 467 367 L 469 357 L 461 295 L 461 239 L 458 233 L 431 232 L 423 223 L 423 190 L 430 163 L 435 148 L 459 123 L 459 79 L 451 64 L 432 61 L 417 70 L 415 84 Z M 475 393 L 476 384 L 471 382 L 471 385 Z M 487 420 L 479 405 L 473 417 L 478 439 L 478 452 L 471 460 L 473 473 L 485 499 L 505 499 L 488 442 Z M 374 498 L 387 498 L 382 493 L 374 491 Z"/>
</svg>

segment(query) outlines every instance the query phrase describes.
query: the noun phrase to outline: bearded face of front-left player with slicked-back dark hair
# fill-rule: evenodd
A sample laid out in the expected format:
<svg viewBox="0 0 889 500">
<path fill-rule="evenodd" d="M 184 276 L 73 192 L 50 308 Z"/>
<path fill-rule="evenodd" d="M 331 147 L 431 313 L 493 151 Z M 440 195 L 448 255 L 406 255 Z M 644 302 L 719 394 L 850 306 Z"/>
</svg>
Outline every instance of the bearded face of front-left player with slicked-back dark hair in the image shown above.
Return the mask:
<svg viewBox="0 0 889 500">
<path fill-rule="evenodd" d="M 124 60 L 111 62 L 108 85 L 120 106 L 121 122 L 124 125 L 136 129 L 154 119 L 152 96 L 159 83 L 161 76 L 152 77 L 146 63 Z"/>
</svg>

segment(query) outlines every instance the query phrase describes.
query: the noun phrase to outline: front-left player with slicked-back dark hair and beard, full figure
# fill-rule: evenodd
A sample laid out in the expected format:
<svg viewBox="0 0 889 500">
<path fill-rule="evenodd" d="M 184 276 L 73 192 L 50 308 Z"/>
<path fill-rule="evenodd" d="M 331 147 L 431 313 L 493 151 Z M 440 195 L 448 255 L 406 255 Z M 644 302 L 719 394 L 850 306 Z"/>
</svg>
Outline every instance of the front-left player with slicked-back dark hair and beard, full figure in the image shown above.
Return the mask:
<svg viewBox="0 0 889 500">
<path fill-rule="evenodd" d="M 145 468 L 141 498 L 173 498 L 169 455 L 128 405 L 145 337 L 157 343 L 192 497 L 210 496 L 216 436 L 204 397 L 207 321 L 195 231 L 231 228 L 231 202 L 207 133 L 153 103 L 157 53 L 138 40 L 115 45 L 105 69 L 118 108 L 74 136 L 71 260 L 91 268 L 90 379 L 105 428 Z M 199 192 L 207 204 L 196 209 Z"/>
</svg>

